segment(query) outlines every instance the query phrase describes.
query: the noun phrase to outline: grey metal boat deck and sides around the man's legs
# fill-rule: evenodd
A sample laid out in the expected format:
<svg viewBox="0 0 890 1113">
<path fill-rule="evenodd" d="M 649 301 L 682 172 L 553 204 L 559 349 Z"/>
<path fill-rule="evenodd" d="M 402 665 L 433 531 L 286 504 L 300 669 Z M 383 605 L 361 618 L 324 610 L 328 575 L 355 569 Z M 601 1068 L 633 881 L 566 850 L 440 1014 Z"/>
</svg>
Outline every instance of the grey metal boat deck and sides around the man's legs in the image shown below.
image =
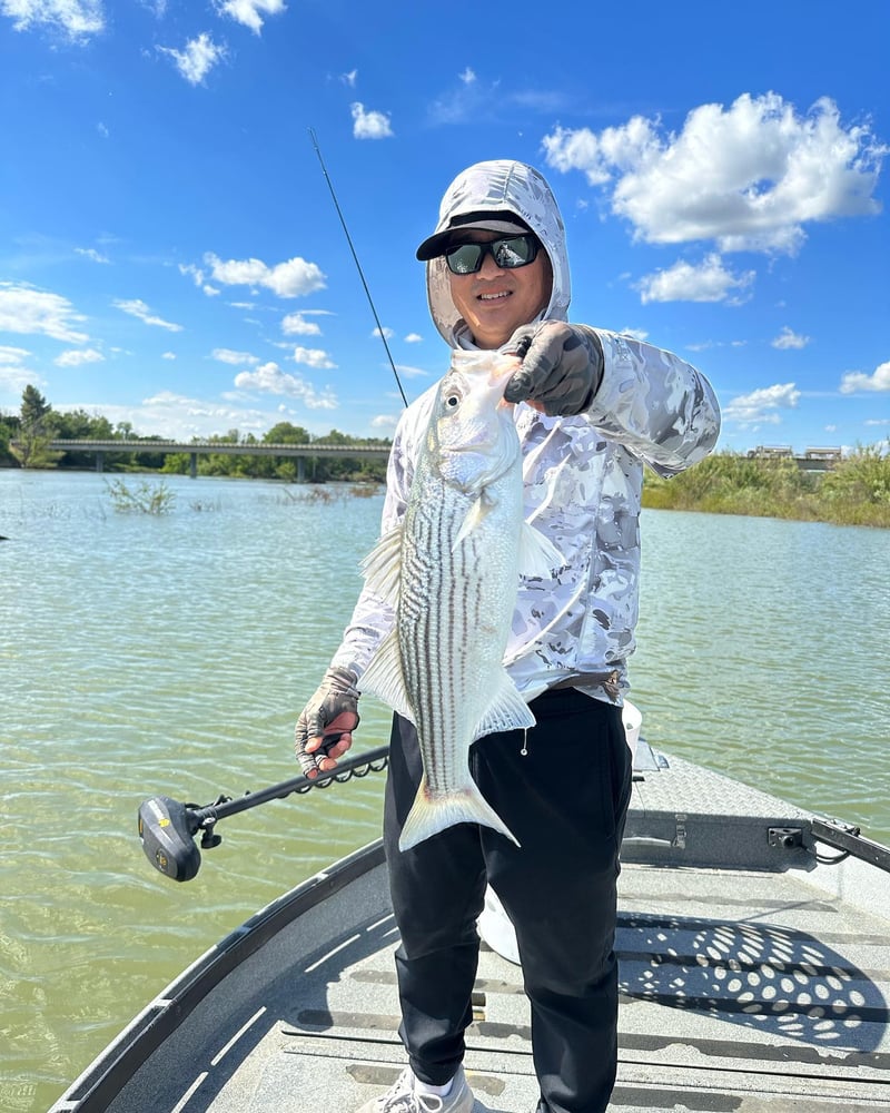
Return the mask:
<svg viewBox="0 0 890 1113">
<path fill-rule="evenodd" d="M 634 790 L 620 885 L 610 1109 L 890 1110 L 886 875 L 852 859 L 813 869 L 803 812 L 651 757 Z M 772 868 L 708 864 L 748 858 L 749 839 Z M 105 1082 L 97 1087 L 88 1072 L 53 1113 L 348 1113 L 390 1085 L 404 1053 L 379 845 L 295 892 L 298 918 L 289 895 L 214 948 L 137 1018 Z M 115 1089 L 115 1071 L 129 1073 L 132 1037 L 157 1042 L 186 1013 L 177 1040 L 106 1104 L 102 1086 Z M 521 971 L 485 946 L 465 1066 L 476 1113 L 535 1109 Z"/>
</svg>

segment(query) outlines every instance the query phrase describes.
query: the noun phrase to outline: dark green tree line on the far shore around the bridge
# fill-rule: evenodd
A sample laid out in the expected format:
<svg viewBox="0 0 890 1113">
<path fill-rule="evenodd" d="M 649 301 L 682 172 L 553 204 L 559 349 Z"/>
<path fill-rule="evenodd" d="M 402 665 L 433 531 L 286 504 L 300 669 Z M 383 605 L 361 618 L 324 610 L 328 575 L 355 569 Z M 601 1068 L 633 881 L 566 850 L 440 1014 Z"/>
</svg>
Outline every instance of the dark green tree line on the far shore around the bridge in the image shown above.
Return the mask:
<svg viewBox="0 0 890 1113">
<path fill-rule="evenodd" d="M 92 470 L 96 454 L 88 452 L 58 452 L 50 447 L 52 441 L 138 441 L 150 446 L 165 440 L 160 436 L 139 436 L 129 422 L 111 422 L 100 414 L 89 414 L 85 410 L 57 411 L 34 386 L 26 386 L 22 392 L 18 414 L 0 412 L 0 466 L 34 469 Z M 13 444 L 14 442 L 14 444 Z M 253 433 L 240 434 L 238 430 L 210 436 L 201 443 L 218 444 L 318 444 L 342 447 L 388 449 L 390 442 L 382 437 L 355 437 L 337 430 L 325 436 L 313 436 L 301 425 L 278 422 L 261 437 Z M 164 474 L 188 474 L 191 454 L 188 452 L 165 452 L 160 446 L 156 453 L 113 450 L 103 452 L 103 467 L 116 472 L 160 472 Z M 305 473 L 313 482 L 328 481 L 378 482 L 386 477 L 385 460 L 364 460 L 348 453 L 336 459 L 310 456 L 305 459 Z M 248 479 L 277 479 L 294 482 L 298 474 L 298 463 L 293 456 L 240 456 L 237 453 L 202 453 L 198 456 L 199 475 L 229 475 Z"/>
</svg>

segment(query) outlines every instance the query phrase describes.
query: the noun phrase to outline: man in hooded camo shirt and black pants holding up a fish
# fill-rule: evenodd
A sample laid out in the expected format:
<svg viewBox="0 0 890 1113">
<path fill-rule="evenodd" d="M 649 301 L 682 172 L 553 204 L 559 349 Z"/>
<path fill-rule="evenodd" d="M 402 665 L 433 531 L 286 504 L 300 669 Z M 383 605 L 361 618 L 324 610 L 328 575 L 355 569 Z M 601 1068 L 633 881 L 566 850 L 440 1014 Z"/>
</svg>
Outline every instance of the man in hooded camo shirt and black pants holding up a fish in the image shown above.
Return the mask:
<svg viewBox="0 0 890 1113">
<path fill-rule="evenodd" d="M 359 1113 L 472 1110 L 462 1062 L 486 884 L 516 929 L 538 1113 L 602 1113 L 617 1061 L 615 888 L 631 788 L 621 705 L 637 612 L 643 466 L 669 475 L 705 456 L 718 405 L 706 380 L 676 356 L 566 322 L 563 221 L 530 166 L 487 161 L 458 175 L 417 257 L 447 344 L 523 355 L 505 397 L 517 403 L 526 518 L 566 567 L 551 582 L 518 584 L 506 664 L 536 726 L 527 737 L 481 738 L 469 756 L 521 848 L 459 824 L 398 849 L 422 766 L 413 726 L 394 717 L 384 839 L 408 1067 Z M 434 396 L 413 403 L 396 430 L 384 530 L 405 512 Z M 366 589 L 297 723 L 308 776 L 333 768 L 352 745 L 362 674 L 392 624 L 392 610 Z"/>
</svg>

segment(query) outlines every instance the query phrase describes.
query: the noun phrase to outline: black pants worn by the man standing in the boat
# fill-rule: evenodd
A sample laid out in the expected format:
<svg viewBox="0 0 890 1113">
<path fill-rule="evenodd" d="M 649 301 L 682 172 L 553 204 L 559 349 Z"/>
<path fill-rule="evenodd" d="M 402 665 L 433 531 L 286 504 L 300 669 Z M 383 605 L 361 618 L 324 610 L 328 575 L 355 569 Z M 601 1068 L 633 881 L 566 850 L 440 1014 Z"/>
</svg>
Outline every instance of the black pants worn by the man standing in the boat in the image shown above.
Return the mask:
<svg viewBox="0 0 890 1113">
<path fill-rule="evenodd" d="M 573 689 L 531 705 L 528 731 L 471 749 L 473 777 L 522 846 L 459 824 L 411 850 L 398 835 L 421 779 L 413 726 L 396 716 L 384 839 L 402 944 L 400 1035 L 415 1074 L 442 1085 L 464 1055 L 486 880 L 516 928 L 532 1047 L 552 1113 L 602 1113 L 617 1061 L 615 886 L 631 790 L 621 710 Z"/>
</svg>

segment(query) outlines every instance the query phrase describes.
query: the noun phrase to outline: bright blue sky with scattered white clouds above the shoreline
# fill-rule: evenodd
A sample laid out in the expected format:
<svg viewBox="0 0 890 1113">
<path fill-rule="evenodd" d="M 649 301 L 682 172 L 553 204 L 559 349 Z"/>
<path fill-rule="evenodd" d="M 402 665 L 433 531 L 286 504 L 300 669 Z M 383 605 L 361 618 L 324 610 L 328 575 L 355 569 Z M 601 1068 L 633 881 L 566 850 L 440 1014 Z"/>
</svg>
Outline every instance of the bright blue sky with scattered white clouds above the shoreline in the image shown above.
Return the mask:
<svg viewBox="0 0 890 1113">
<path fill-rule="evenodd" d="M 883 0 L 0 0 L 0 411 L 392 435 L 312 128 L 409 398 L 448 359 L 414 250 L 518 158 L 572 318 L 701 367 L 723 447 L 886 442 L 889 43 Z"/>
</svg>

